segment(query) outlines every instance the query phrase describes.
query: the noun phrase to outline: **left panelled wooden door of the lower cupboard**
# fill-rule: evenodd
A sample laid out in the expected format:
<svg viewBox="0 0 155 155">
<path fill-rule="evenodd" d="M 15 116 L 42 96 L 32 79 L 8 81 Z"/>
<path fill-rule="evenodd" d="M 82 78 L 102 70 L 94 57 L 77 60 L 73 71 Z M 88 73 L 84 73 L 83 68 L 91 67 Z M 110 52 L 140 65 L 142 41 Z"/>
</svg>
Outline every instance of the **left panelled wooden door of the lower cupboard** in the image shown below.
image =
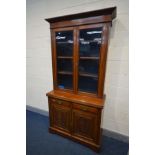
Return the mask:
<svg viewBox="0 0 155 155">
<path fill-rule="evenodd" d="M 52 104 L 52 127 L 70 132 L 71 109 L 61 105 Z"/>
</svg>

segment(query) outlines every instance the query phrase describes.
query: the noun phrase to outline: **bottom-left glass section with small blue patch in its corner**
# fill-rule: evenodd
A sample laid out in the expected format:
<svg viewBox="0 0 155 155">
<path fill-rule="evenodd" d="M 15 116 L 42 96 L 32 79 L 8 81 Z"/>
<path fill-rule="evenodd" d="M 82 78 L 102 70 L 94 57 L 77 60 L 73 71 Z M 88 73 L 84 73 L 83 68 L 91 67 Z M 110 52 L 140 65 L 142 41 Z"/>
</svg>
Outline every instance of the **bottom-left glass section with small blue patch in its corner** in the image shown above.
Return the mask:
<svg viewBox="0 0 155 155">
<path fill-rule="evenodd" d="M 61 89 L 73 89 L 72 75 L 58 74 L 58 87 Z"/>
</svg>

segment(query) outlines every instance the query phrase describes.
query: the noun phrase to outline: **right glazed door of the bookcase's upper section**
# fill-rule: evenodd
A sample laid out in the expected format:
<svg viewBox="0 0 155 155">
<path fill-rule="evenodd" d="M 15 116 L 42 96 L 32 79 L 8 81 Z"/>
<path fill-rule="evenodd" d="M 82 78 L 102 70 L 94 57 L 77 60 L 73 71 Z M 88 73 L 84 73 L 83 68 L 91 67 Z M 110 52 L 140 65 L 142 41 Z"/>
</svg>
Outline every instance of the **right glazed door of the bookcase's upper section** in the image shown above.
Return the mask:
<svg viewBox="0 0 155 155">
<path fill-rule="evenodd" d="M 102 24 L 79 27 L 78 90 L 98 93 Z"/>
</svg>

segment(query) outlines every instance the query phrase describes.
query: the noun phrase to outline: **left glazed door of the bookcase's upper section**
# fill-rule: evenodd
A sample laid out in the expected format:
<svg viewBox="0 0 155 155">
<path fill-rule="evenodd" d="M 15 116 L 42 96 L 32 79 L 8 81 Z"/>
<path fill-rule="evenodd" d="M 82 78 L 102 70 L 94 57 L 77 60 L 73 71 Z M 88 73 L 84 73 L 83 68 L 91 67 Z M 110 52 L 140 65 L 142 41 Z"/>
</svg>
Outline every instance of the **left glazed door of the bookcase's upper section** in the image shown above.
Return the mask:
<svg viewBox="0 0 155 155">
<path fill-rule="evenodd" d="M 53 74 L 55 89 L 74 89 L 74 28 L 59 28 L 53 32 Z"/>
</svg>

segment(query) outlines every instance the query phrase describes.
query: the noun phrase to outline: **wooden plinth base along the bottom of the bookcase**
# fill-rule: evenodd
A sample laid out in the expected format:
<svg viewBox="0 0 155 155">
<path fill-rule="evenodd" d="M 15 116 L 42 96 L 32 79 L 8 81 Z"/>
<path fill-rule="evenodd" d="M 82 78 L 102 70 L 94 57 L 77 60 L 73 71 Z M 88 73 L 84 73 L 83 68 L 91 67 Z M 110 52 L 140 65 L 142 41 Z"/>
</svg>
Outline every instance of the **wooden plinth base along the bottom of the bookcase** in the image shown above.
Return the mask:
<svg viewBox="0 0 155 155">
<path fill-rule="evenodd" d="M 55 129 L 55 128 L 52 128 L 52 127 L 49 127 L 49 132 L 50 133 L 56 133 L 58 135 L 61 135 L 63 137 L 66 137 L 66 138 L 69 138 L 75 142 L 79 142 L 80 144 L 84 144 L 85 146 L 91 148 L 92 150 L 94 150 L 95 152 L 100 152 L 100 146 L 99 145 L 96 145 L 94 143 L 91 143 L 90 141 L 87 141 L 87 140 L 83 140 L 79 137 L 76 137 L 76 136 L 73 136 L 71 134 L 68 134 L 66 132 L 63 132 L 59 129 Z"/>
</svg>

